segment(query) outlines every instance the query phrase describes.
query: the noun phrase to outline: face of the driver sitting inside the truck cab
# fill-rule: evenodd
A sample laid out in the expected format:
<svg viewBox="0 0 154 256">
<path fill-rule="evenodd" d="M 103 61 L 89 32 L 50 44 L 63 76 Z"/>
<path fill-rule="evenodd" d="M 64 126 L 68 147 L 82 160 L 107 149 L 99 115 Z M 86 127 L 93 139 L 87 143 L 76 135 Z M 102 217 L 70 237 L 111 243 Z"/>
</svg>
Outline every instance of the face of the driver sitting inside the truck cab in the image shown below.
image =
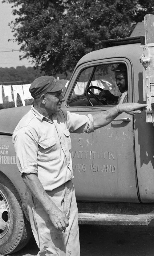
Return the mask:
<svg viewBox="0 0 154 256">
<path fill-rule="evenodd" d="M 116 85 L 118 86 L 121 93 L 128 89 L 127 73 L 115 72 Z"/>
</svg>

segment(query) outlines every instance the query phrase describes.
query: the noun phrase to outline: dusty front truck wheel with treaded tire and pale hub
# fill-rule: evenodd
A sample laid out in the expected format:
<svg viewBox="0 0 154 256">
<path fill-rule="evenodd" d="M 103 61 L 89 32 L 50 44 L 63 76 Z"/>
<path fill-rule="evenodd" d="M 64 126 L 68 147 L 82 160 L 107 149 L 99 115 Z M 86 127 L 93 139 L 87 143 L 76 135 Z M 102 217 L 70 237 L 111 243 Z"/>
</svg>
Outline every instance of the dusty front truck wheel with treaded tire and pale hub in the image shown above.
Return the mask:
<svg viewBox="0 0 154 256">
<path fill-rule="evenodd" d="M 0 254 L 7 255 L 22 249 L 31 234 L 30 222 L 23 213 L 18 192 L 0 172 Z"/>
</svg>

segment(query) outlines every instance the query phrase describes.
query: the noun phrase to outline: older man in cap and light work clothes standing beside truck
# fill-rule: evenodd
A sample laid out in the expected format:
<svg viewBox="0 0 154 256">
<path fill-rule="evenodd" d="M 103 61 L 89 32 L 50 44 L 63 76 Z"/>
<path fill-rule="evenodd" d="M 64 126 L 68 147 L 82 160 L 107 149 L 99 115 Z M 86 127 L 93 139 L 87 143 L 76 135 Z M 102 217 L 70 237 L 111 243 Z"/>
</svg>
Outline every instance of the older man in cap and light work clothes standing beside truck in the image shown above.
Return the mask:
<svg viewBox="0 0 154 256">
<path fill-rule="evenodd" d="M 61 109 L 67 80 L 38 77 L 30 86 L 31 110 L 13 133 L 17 166 L 27 187 L 31 228 L 38 255 L 79 256 L 78 209 L 71 179 L 70 133 L 90 133 L 120 113 L 141 113 L 146 104 L 120 104 L 99 114 Z"/>
</svg>

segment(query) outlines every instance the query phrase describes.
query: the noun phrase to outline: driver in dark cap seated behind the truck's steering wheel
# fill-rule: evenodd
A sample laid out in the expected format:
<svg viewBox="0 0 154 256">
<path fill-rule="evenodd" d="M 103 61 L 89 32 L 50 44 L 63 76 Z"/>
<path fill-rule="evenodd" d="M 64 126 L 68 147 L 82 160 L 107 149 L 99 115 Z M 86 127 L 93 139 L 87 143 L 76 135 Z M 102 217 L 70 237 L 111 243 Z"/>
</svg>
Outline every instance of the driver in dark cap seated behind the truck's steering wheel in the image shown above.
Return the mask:
<svg viewBox="0 0 154 256">
<path fill-rule="evenodd" d="M 103 90 L 99 93 L 99 98 L 100 99 L 105 98 L 108 104 L 127 103 L 128 102 L 127 67 L 125 64 L 121 63 L 115 69 L 112 69 L 112 71 L 115 71 L 116 85 L 118 86 L 121 92 L 121 95 L 119 97 L 119 96 L 113 95 L 109 90 Z"/>
</svg>

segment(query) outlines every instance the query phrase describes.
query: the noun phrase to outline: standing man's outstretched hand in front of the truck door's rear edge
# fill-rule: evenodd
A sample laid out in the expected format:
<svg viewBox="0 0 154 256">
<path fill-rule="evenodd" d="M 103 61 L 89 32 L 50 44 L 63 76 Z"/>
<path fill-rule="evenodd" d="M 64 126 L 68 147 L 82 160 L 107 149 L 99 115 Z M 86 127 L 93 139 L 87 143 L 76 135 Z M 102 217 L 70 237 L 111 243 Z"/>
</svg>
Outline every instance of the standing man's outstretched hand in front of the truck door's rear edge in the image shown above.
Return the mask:
<svg viewBox="0 0 154 256">
<path fill-rule="evenodd" d="M 147 104 L 140 103 L 124 103 L 119 105 L 120 112 L 125 112 L 129 115 L 140 114 L 144 109 L 146 109 Z"/>
</svg>

